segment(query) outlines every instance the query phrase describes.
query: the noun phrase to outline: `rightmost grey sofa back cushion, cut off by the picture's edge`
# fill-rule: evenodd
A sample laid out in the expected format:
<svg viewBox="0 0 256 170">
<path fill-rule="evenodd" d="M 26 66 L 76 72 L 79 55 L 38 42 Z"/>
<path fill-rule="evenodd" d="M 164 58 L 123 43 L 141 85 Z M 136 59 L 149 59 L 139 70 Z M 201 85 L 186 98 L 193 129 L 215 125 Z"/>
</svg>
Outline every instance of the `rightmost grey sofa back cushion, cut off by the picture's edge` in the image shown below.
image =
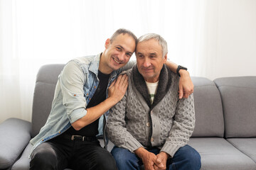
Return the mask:
<svg viewBox="0 0 256 170">
<path fill-rule="evenodd" d="M 256 77 L 214 80 L 223 102 L 225 137 L 256 137 Z"/>
</svg>

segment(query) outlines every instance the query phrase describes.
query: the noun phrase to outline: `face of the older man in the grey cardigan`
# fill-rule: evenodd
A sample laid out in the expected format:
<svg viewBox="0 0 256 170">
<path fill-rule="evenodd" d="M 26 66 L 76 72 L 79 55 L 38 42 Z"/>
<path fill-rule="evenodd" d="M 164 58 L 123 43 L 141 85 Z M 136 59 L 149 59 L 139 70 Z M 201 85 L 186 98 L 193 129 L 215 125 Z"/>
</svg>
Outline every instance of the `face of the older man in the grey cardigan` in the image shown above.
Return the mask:
<svg viewBox="0 0 256 170">
<path fill-rule="evenodd" d="M 137 67 L 139 73 L 148 82 L 159 81 L 159 75 L 167 55 L 163 57 L 161 45 L 157 40 L 151 39 L 139 42 L 136 49 Z"/>
</svg>

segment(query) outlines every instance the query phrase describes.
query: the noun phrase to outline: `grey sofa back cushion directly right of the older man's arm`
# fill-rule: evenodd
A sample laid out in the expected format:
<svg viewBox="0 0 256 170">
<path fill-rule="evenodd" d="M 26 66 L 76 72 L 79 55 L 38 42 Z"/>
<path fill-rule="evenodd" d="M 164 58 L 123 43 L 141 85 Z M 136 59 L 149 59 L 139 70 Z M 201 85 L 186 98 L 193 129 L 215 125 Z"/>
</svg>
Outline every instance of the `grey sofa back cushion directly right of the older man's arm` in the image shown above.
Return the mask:
<svg viewBox="0 0 256 170">
<path fill-rule="evenodd" d="M 224 119 L 220 92 L 213 81 L 191 77 L 194 84 L 196 127 L 192 137 L 223 137 Z"/>
</svg>

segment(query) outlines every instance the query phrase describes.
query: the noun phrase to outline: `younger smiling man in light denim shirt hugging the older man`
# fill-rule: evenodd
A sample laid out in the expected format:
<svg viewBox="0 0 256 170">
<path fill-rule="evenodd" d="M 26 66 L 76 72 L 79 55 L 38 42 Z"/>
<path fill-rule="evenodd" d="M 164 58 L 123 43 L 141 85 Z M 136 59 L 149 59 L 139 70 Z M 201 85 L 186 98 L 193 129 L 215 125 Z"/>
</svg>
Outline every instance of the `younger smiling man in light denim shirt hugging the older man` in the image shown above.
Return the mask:
<svg viewBox="0 0 256 170">
<path fill-rule="evenodd" d="M 65 65 L 46 125 L 31 140 L 31 169 L 117 169 L 111 154 L 100 147 L 97 136 L 103 134 L 108 110 L 124 96 L 127 76 L 117 76 L 134 64 L 129 59 L 136 45 L 132 32 L 119 29 L 106 40 L 104 52 L 76 58 Z M 170 67 L 176 70 L 176 64 Z M 186 82 L 183 85 L 188 86 L 183 93 L 186 97 L 193 85 L 188 72 L 180 72 Z"/>
</svg>

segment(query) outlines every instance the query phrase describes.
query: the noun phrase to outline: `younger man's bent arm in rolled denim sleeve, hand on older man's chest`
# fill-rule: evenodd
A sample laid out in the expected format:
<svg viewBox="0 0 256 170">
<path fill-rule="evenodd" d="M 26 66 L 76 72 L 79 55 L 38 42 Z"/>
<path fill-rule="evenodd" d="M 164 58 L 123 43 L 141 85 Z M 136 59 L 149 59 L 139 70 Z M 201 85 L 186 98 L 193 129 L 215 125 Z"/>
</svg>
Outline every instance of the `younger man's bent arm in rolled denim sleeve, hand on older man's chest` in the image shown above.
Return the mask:
<svg viewBox="0 0 256 170">
<path fill-rule="evenodd" d="M 109 97 L 105 101 L 92 108 L 86 108 L 87 104 L 83 90 L 85 74 L 78 64 L 73 61 L 68 62 L 60 74 L 59 81 L 63 95 L 62 102 L 70 123 L 75 130 L 80 130 L 100 118 L 101 115 L 122 99 L 128 86 L 127 75 L 120 75 L 110 85 Z"/>
</svg>

